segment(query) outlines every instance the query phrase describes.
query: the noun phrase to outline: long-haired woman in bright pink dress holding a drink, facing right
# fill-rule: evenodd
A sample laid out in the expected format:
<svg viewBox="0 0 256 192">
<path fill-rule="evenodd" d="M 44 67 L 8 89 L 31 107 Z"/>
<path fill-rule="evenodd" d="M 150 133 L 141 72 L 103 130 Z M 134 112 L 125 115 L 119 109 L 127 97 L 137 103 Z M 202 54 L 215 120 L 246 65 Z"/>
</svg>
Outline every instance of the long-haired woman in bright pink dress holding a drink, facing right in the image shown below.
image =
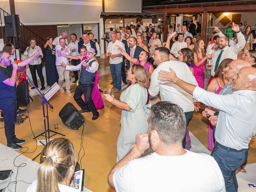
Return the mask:
<svg viewBox="0 0 256 192">
<path fill-rule="evenodd" d="M 194 76 L 201 88 L 204 88 L 204 64 L 206 59 L 212 58 L 211 54 L 204 56 L 204 45 L 204 41 L 198 39 L 194 47 Z"/>
</svg>

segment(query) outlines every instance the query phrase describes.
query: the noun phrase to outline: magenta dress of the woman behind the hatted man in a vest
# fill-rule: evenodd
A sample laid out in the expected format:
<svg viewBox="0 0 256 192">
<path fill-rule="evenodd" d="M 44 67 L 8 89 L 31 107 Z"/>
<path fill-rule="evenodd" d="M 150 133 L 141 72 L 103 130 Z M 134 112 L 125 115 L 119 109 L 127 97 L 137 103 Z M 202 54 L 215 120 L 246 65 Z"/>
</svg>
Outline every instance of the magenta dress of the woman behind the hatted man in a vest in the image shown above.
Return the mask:
<svg viewBox="0 0 256 192">
<path fill-rule="evenodd" d="M 86 60 L 86 57 L 81 58 L 81 62 L 83 60 Z M 95 80 L 94 80 L 94 87 L 92 89 L 92 101 L 96 107 L 96 109 L 103 109 L 104 108 L 104 101 L 101 96 L 100 90 L 98 89 L 98 80 L 99 80 L 99 74 L 98 71 L 96 72 Z M 86 103 L 86 100 L 84 99 L 84 102 Z"/>
</svg>

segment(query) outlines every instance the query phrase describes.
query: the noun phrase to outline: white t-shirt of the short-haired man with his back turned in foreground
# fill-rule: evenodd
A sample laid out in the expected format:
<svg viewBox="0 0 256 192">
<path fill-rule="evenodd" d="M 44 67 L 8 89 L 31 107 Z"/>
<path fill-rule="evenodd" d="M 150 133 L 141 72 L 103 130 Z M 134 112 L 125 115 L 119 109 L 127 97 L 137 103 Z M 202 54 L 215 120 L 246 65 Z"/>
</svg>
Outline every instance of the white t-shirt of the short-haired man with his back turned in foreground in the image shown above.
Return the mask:
<svg viewBox="0 0 256 192">
<path fill-rule="evenodd" d="M 130 161 L 114 172 L 117 192 L 226 192 L 213 157 L 187 151 L 181 156 L 156 152 Z"/>
</svg>

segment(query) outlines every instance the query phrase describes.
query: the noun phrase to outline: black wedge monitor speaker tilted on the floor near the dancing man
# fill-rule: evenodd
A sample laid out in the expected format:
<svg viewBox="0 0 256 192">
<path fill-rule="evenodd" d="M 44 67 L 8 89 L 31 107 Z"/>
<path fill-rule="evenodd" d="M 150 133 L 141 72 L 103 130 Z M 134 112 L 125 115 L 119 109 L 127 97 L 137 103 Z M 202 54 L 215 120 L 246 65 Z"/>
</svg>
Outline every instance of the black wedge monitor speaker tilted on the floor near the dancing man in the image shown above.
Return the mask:
<svg viewBox="0 0 256 192">
<path fill-rule="evenodd" d="M 84 123 L 84 116 L 70 102 L 60 110 L 59 116 L 62 123 L 73 130 L 78 130 Z"/>
</svg>

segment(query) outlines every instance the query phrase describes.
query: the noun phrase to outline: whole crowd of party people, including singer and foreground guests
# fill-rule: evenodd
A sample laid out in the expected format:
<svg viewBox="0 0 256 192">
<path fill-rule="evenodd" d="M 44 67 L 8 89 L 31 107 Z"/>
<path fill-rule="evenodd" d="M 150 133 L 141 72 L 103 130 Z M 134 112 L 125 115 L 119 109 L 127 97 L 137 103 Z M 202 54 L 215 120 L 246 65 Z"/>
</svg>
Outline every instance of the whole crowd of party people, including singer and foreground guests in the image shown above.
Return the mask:
<svg viewBox="0 0 256 192">
<path fill-rule="evenodd" d="M 228 29 L 226 33 L 234 37 L 215 27 L 206 47 L 193 24 L 193 21 L 189 26 L 177 24 L 180 31 L 172 29 L 165 45 L 152 24 L 147 29 L 138 23 L 135 29 L 127 26 L 120 32 L 109 33 L 111 42 L 106 55 L 112 89 L 121 95 L 118 100 L 114 94 L 106 93 L 104 98 L 122 109 L 117 163 L 108 176 L 109 185 L 117 191 L 238 191 L 236 170 L 245 171 L 248 145 L 256 134 L 256 120 L 251 118 L 256 112 L 256 50 L 252 50 L 251 40 L 248 41 L 254 36 L 251 38 L 249 26 L 232 22 L 232 31 Z M 80 70 L 79 75 L 74 73 L 74 83 L 78 85 L 74 99 L 81 107 L 80 112 L 92 112 L 92 120 L 96 120 L 97 109 L 104 107 L 98 88 L 97 43 L 92 33 L 83 33 L 80 41 L 76 40 L 76 34 L 71 34 L 69 44 L 66 37 L 66 32 L 54 40 L 48 37 L 44 45 L 47 83 L 50 86 L 58 82 L 60 92 L 64 92 L 65 80 L 66 93 L 72 96 L 70 70 Z M 42 70 L 42 54 L 34 39 L 30 44 L 26 50 L 30 57 L 18 65 L 25 66 L 34 60 L 30 70 L 36 73 Z M 0 58 L 0 89 L 11 90 L 10 106 L 16 111 L 14 77 L 18 65 L 15 62 L 10 65 L 7 52 L 0 52 Z M 40 81 L 44 89 L 43 80 Z M 124 91 L 122 82 L 127 84 Z M 151 106 L 150 96 L 159 93 L 161 102 Z M 4 96 L 0 97 L 3 99 Z M 208 149 L 212 157 L 189 151 L 188 124 L 202 104 L 206 105 L 202 114 L 209 119 Z M 4 116 L 10 114 L 10 106 L 0 102 Z M 18 149 L 21 142 L 16 142 L 13 120 L 6 122 L 5 130 L 12 130 L 6 133 L 7 146 Z M 69 153 L 67 160 L 61 155 L 64 149 L 56 148 L 61 142 L 68 144 L 63 152 Z M 38 180 L 28 191 L 45 191 L 49 187 L 46 174 L 54 178 L 52 185 L 58 191 L 63 184 L 67 185 L 68 172 L 74 172 L 75 153 L 71 142 L 59 139 L 52 143 L 54 140 L 42 151 Z M 66 169 L 58 169 L 57 164 L 63 164 Z M 51 172 L 46 173 L 50 167 Z"/>
</svg>

